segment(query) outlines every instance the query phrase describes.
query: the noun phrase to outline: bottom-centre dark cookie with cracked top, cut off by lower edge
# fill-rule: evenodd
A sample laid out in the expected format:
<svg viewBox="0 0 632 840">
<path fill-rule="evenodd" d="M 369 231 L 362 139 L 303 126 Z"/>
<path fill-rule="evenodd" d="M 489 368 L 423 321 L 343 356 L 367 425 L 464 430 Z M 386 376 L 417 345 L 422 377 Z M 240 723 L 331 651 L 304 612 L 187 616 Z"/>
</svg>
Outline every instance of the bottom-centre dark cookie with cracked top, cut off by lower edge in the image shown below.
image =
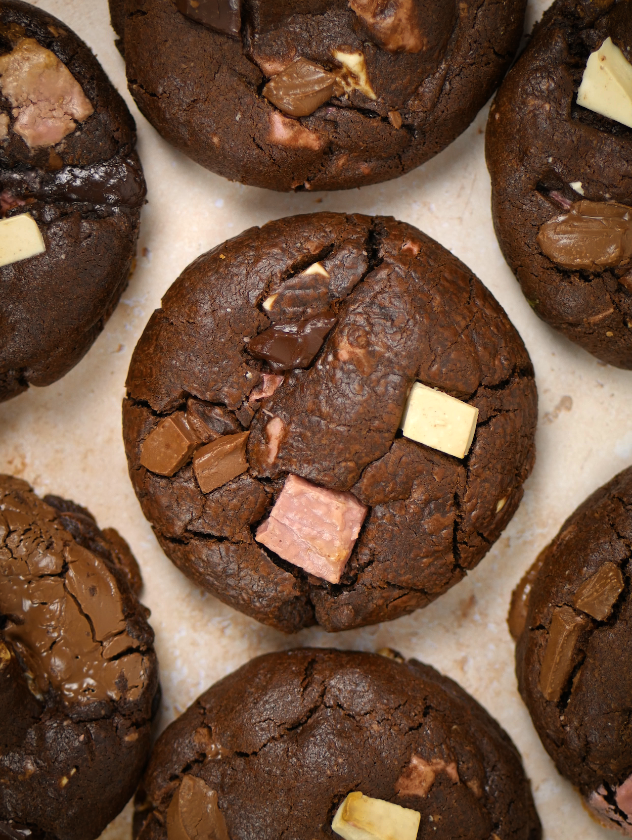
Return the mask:
<svg viewBox="0 0 632 840">
<path fill-rule="evenodd" d="M 507 733 L 452 680 L 397 660 L 299 648 L 224 677 L 156 743 L 134 838 L 336 837 L 336 811 L 361 791 L 417 812 L 413 838 L 539 840 Z"/>
</svg>

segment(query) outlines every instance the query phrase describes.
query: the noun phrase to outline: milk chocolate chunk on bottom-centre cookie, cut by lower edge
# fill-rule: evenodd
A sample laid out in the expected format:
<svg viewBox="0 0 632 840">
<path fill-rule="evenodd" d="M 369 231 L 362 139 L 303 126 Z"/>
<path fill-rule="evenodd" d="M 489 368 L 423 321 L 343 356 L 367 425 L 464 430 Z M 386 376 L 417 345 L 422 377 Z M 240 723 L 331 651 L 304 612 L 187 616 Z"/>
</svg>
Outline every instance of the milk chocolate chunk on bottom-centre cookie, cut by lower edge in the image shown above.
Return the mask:
<svg viewBox="0 0 632 840">
<path fill-rule="evenodd" d="M 167 840 L 230 840 L 217 790 L 186 775 L 166 812 Z"/>
</svg>

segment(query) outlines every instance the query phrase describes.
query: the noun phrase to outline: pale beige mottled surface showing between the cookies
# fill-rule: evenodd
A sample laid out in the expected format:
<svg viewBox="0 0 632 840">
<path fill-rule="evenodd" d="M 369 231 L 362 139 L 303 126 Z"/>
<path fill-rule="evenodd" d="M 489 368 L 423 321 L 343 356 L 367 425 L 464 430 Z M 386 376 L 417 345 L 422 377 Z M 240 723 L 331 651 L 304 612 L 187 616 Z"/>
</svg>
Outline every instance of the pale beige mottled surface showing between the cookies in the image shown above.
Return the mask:
<svg viewBox="0 0 632 840">
<path fill-rule="evenodd" d="M 530 0 L 527 30 L 548 0 Z M 148 199 L 138 261 L 127 291 L 82 362 L 48 388 L 0 406 L 0 471 L 40 494 L 90 508 L 118 528 L 139 560 L 161 664 L 164 728 L 215 680 L 251 657 L 297 645 L 396 648 L 457 680 L 507 729 L 532 780 L 548 840 L 616 836 L 582 809 L 557 774 L 520 700 L 506 615 L 514 585 L 564 519 L 632 463 L 632 371 L 603 365 L 536 318 L 493 234 L 483 156 L 487 108 L 434 160 L 386 184 L 348 192 L 286 195 L 230 183 L 187 160 L 135 108 L 113 45 L 107 0 L 35 0 L 71 26 L 102 62 L 136 119 Z M 174 59 L 176 60 L 176 59 Z M 577 161 L 575 179 L 582 181 Z M 203 251 L 272 218 L 318 210 L 382 213 L 412 223 L 463 260 L 519 329 L 540 394 L 537 461 L 524 501 L 476 570 L 427 609 L 347 633 L 316 628 L 288 637 L 200 591 L 162 554 L 129 483 L 121 401 L 134 344 L 161 296 Z M 103 840 L 129 840 L 131 807 Z"/>
</svg>

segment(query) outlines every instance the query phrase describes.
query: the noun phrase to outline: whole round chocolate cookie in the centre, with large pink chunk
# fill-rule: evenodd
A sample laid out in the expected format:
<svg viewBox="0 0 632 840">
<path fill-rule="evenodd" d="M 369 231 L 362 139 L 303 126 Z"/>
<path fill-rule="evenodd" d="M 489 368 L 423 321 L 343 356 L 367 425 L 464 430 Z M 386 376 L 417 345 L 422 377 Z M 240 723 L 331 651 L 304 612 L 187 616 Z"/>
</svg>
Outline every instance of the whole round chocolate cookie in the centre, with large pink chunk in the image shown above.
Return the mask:
<svg viewBox="0 0 632 840">
<path fill-rule="evenodd" d="M 127 387 L 129 475 L 162 548 L 286 632 L 435 600 L 498 538 L 534 461 L 518 333 L 392 218 L 285 218 L 199 257 Z"/>
</svg>

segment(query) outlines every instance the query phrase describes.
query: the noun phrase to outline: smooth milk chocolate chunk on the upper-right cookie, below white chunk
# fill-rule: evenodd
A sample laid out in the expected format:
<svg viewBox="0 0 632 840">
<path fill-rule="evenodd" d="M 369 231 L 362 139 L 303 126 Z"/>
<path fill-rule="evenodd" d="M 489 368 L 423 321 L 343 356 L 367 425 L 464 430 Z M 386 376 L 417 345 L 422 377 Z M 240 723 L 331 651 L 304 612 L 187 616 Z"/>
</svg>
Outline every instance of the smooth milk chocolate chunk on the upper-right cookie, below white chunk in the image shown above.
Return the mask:
<svg viewBox="0 0 632 840">
<path fill-rule="evenodd" d="M 537 243 L 567 269 L 598 270 L 632 256 L 632 207 L 614 202 L 573 202 L 569 213 L 540 228 Z"/>
</svg>

